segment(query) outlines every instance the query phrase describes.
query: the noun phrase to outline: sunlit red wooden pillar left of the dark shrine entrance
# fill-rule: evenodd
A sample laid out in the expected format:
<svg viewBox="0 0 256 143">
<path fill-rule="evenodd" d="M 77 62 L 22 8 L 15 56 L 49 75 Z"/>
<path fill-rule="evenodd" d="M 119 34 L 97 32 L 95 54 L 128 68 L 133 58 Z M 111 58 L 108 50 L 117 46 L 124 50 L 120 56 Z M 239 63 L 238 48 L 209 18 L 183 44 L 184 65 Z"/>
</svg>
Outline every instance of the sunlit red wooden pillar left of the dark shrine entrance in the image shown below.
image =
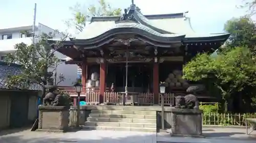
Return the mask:
<svg viewBox="0 0 256 143">
<path fill-rule="evenodd" d="M 100 63 L 99 70 L 99 93 L 100 93 L 100 103 L 103 103 L 103 96 L 105 92 L 105 83 L 106 83 L 106 63 L 102 61 Z"/>
</svg>

